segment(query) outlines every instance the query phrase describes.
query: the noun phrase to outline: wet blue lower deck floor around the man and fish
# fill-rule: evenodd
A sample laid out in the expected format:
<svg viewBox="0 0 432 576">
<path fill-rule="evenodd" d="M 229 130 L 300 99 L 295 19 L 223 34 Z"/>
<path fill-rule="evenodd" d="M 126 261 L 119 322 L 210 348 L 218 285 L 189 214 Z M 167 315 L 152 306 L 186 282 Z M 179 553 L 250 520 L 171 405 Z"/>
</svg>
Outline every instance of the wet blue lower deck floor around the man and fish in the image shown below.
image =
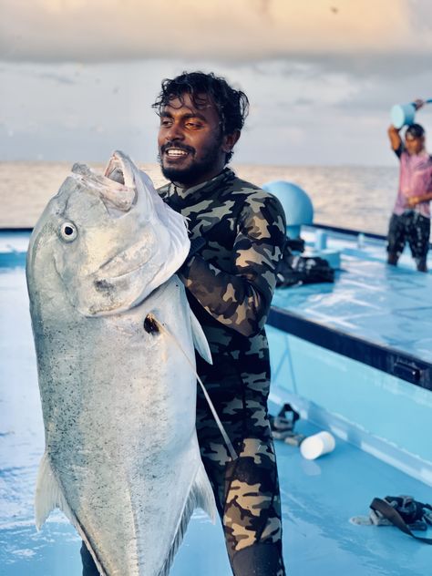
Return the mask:
<svg viewBox="0 0 432 576">
<path fill-rule="evenodd" d="M 19 261 L 19 255 L 11 262 L 14 258 Z M 430 276 L 425 279 L 429 282 Z M 0 266 L 0 574 L 78 576 L 80 542 L 67 520 L 57 514 L 39 533 L 33 524 L 36 468 L 44 439 L 27 307 L 23 266 L 4 262 Z M 297 429 L 310 434 L 316 428 L 301 421 Z M 430 487 L 339 439 L 332 454 L 315 461 L 304 460 L 298 448 L 283 443 L 277 443 L 277 454 L 290 575 L 432 572 L 431 547 L 395 528 L 350 522 L 353 516 L 367 514 L 375 496 L 412 494 L 430 502 Z M 203 514 L 191 520 L 171 574 L 230 576 L 221 529 Z"/>
</svg>

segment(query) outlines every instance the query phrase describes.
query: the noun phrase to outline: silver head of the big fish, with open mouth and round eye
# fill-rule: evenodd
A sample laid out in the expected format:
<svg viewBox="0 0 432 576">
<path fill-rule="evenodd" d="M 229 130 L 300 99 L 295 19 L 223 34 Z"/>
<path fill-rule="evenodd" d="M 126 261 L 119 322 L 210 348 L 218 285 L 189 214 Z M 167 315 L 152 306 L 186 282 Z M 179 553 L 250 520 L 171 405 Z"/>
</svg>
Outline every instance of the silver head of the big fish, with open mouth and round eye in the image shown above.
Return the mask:
<svg viewBox="0 0 432 576">
<path fill-rule="evenodd" d="M 48 203 L 29 245 L 29 292 L 60 292 L 86 316 L 118 314 L 166 282 L 189 250 L 185 219 L 117 151 L 103 175 L 75 164 Z"/>
</svg>

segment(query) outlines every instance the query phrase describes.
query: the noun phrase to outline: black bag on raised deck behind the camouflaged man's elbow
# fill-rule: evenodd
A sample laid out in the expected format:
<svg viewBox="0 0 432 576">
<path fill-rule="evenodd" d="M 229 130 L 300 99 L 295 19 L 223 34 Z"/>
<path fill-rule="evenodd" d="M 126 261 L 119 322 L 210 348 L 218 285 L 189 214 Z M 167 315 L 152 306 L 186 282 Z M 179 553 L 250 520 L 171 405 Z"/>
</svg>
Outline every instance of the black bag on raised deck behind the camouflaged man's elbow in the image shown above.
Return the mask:
<svg viewBox="0 0 432 576">
<path fill-rule="evenodd" d="M 334 282 L 334 269 L 330 264 L 324 258 L 294 255 L 290 241 L 286 242 L 279 263 L 276 287 L 289 288 L 296 284 L 322 282 Z"/>
</svg>

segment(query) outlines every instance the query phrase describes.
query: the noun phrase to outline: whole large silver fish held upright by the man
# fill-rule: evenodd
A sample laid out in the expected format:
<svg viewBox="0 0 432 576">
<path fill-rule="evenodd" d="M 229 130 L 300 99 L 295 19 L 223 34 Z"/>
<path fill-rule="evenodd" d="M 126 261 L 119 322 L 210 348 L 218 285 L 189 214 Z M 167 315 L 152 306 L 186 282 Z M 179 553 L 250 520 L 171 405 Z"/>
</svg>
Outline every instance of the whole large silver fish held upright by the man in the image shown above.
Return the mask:
<svg viewBox="0 0 432 576">
<path fill-rule="evenodd" d="M 107 576 L 162 576 L 196 507 L 215 515 L 195 431 L 194 344 L 173 275 L 185 222 L 121 152 L 75 165 L 33 231 L 27 286 L 46 433 L 36 525 L 64 511 Z"/>
</svg>

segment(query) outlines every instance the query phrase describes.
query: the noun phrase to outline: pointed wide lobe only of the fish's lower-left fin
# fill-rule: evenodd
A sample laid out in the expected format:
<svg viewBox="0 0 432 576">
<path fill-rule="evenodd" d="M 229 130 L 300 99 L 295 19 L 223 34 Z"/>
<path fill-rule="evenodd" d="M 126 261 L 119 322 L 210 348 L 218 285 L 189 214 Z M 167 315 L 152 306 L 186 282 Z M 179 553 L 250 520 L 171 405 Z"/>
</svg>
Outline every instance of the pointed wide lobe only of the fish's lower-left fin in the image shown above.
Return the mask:
<svg viewBox="0 0 432 576">
<path fill-rule="evenodd" d="M 62 489 L 45 453 L 39 465 L 36 481 L 35 497 L 35 519 L 36 529 L 40 530 L 50 512 L 54 509 L 61 509 L 72 524 L 75 524 L 74 515 L 67 504 Z"/>
</svg>

